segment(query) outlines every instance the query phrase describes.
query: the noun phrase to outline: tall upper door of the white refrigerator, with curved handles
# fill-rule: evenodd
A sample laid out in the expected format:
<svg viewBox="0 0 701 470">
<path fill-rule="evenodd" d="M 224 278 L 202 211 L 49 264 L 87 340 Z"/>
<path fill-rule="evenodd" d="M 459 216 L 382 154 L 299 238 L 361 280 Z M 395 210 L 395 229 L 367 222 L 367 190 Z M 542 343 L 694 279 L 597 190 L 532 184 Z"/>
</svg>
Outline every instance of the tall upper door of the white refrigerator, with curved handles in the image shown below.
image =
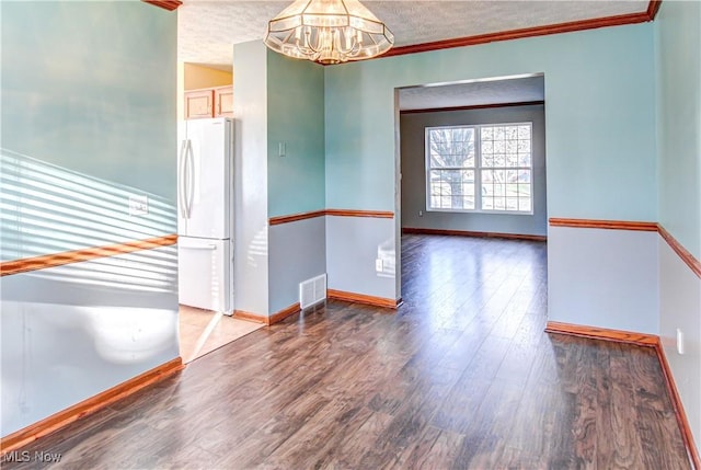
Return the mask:
<svg viewBox="0 0 701 470">
<path fill-rule="evenodd" d="M 177 232 L 227 239 L 233 217 L 231 121 L 183 123 L 177 162 Z"/>
</svg>

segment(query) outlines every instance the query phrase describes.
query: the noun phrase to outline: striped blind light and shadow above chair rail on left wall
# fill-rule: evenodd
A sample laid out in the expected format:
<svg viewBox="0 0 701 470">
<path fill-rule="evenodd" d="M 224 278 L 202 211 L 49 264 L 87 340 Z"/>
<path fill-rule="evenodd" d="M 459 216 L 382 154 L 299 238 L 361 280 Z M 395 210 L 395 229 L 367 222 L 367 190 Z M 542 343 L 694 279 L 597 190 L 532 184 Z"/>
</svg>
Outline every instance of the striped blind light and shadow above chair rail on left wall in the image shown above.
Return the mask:
<svg viewBox="0 0 701 470">
<path fill-rule="evenodd" d="M 174 233 L 175 207 L 141 190 L 0 149 L 2 248 L 20 260 Z M 146 204 L 146 210 L 139 207 Z M 158 271 L 158 270 L 157 270 Z"/>
</svg>

